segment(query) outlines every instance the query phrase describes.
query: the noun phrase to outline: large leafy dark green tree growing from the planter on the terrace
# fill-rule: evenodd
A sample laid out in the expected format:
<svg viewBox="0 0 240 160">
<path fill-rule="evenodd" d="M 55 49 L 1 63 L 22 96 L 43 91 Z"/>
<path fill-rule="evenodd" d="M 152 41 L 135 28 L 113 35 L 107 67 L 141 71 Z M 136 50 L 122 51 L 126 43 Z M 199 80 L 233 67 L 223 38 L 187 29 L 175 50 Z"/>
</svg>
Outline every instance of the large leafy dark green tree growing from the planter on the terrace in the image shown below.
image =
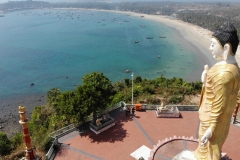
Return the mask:
<svg viewBox="0 0 240 160">
<path fill-rule="evenodd" d="M 87 108 L 88 115 L 93 115 L 93 122 L 97 113 L 106 109 L 115 94 L 111 81 L 103 73 L 93 72 L 83 77 L 83 85 L 77 88 L 81 95 L 83 108 Z"/>
</svg>

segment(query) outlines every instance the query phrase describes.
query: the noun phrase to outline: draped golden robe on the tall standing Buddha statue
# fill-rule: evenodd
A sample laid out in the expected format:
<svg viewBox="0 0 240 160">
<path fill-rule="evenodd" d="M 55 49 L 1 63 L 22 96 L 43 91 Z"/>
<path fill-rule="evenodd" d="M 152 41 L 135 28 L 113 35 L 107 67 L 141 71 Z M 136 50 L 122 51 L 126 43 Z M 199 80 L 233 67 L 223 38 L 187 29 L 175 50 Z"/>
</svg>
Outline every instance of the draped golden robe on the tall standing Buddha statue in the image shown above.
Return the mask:
<svg viewBox="0 0 240 160">
<path fill-rule="evenodd" d="M 239 91 L 240 71 L 237 64 L 216 64 L 207 73 L 199 105 L 199 145 L 194 152 L 197 160 L 220 160 L 236 106 Z M 201 138 L 208 128 L 212 137 L 206 146 L 201 146 Z"/>
</svg>

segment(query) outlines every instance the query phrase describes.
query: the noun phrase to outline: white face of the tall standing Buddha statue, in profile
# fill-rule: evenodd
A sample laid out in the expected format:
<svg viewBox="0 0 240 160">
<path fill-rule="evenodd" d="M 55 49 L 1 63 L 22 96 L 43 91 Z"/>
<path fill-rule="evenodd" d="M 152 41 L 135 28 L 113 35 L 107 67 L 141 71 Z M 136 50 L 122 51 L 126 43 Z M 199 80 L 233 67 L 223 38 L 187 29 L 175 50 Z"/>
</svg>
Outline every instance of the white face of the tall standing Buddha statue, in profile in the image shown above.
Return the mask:
<svg viewBox="0 0 240 160">
<path fill-rule="evenodd" d="M 212 38 L 209 49 L 212 51 L 213 58 L 219 61 L 223 60 L 224 50 L 222 46 L 218 43 L 216 38 Z"/>
</svg>

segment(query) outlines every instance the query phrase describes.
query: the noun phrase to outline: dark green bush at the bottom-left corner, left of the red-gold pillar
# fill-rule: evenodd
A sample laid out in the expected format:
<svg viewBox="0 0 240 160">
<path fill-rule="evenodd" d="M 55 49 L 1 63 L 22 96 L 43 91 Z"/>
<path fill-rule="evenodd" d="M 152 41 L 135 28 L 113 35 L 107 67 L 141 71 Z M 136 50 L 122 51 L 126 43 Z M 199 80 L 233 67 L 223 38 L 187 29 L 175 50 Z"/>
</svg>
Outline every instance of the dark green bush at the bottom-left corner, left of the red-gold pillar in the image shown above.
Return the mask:
<svg viewBox="0 0 240 160">
<path fill-rule="evenodd" d="M 0 132 L 0 155 L 7 155 L 11 150 L 11 141 L 7 138 L 6 133 Z"/>
</svg>

